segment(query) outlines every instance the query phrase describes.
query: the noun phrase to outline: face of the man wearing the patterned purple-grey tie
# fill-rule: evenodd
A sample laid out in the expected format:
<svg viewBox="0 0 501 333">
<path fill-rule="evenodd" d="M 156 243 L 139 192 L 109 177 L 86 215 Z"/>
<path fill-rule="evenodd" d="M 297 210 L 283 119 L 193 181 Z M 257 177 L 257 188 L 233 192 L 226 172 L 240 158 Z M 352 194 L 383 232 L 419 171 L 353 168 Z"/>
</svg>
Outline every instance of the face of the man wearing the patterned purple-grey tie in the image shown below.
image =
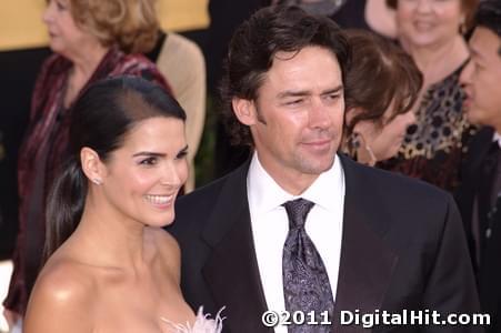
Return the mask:
<svg viewBox="0 0 501 333">
<path fill-rule="evenodd" d="M 250 125 L 260 162 L 284 190 L 299 194 L 332 167 L 344 97 L 331 51 L 307 47 L 277 53 L 257 100 L 240 102 L 249 108 L 249 117 L 239 119 Z"/>
</svg>

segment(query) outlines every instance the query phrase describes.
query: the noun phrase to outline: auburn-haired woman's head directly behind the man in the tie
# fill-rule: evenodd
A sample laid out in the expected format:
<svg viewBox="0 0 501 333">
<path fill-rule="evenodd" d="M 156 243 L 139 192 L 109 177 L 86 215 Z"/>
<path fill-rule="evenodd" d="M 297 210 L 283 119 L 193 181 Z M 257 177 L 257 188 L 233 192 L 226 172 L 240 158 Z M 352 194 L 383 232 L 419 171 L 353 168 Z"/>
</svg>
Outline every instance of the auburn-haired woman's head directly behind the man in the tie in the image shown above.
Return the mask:
<svg viewBox="0 0 501 333">
<path fill-rule="evenodd" d="M 414 121 L 412 105 L 422 75 L 392 42 L 363 30 L 347 30 L 352 62 L 347 72 L 344 150 L 374 165 L 393 157 Z"/>
</svg>

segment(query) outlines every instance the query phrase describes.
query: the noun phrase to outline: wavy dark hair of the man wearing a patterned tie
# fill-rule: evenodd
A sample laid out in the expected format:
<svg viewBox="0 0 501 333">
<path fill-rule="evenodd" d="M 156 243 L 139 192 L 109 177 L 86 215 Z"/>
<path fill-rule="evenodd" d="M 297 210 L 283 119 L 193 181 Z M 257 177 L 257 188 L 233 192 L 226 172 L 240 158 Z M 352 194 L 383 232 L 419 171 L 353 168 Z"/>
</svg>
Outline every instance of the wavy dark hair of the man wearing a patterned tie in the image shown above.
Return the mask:
<svg viewBox="0 0 501 333">
<path fill-rule="evenodd" d="M 221 82 L 222 117 L 233 144 L 252 145 L 249 127 L 239 122 L 232 99 L 255 100 L 277 52 L 299 52 L 305 47 L 330 50 L 338 59 L 344 82 L 350 47 L 338 24 L 298 7 L 267 7 L 234 32 Z"/>
</svg>

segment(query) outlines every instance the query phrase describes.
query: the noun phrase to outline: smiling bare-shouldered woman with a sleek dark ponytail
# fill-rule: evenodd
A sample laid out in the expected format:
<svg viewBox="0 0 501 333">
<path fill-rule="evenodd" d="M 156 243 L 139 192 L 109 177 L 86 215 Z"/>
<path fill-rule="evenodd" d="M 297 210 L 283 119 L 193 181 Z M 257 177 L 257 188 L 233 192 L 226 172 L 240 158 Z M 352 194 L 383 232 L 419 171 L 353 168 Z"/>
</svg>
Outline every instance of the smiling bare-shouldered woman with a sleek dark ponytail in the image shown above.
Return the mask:
<svg viewBox="0 0 501 333">
<path fill-rule="evenodd" d="M 188 176 L 184 120 L 161 87 L 133 77 L 77 101 L 23 332 L 167 332 L 194 321 L 179 246 L 162 229 Z"/>
</svg>

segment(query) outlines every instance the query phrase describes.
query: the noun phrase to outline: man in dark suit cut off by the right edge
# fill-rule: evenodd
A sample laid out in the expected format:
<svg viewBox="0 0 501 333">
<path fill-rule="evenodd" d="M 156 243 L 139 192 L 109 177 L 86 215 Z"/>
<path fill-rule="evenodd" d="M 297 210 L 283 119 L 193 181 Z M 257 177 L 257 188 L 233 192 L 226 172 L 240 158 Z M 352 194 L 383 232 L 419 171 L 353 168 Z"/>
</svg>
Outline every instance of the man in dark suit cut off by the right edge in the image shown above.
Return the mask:
<svg viewBox="0 0 501 333">
<path fill-rule="evenodd" d="M 467 117 L 483 125 L 469 145 L 457 199 L 475 266 L 489 332 L 501 332 L 501 1 L 481 2 L 461 73 Z"/>
</svg>

